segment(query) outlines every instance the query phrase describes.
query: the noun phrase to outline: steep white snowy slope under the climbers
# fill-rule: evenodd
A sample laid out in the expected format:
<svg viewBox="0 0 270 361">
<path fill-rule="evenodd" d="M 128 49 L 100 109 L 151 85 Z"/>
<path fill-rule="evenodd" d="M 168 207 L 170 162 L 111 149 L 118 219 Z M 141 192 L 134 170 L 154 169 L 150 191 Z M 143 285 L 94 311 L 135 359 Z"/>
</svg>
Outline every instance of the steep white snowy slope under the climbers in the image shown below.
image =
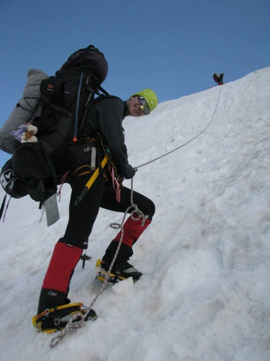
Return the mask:
<svg viewBox="0 0 270 361">
<path fill-rule="evenodd" d="M 55 348 L 55 334 L 37 334 L 31 317 L 65 230 L 69 186 L 61 218 L 49 228 L 30 198 L 10 201 L 0 223 L 1 360 L 269 361 L 269 90 L 265 68 L 124 120 L 133 166 L 209 126 L 138 169 L 134 190 L 156 206 L 131 259 L 144 275 L 135 285 L 108 285 L 93 306 L 98 319 Z M 95 261 L 117 233 L 109 223 L 121 220 L 100 210 L 89 238 L 92 260 L 84 270 L 80 262 L 71 280 L 73 302 L 90 304 L 100 289 Z"/>
</svg>

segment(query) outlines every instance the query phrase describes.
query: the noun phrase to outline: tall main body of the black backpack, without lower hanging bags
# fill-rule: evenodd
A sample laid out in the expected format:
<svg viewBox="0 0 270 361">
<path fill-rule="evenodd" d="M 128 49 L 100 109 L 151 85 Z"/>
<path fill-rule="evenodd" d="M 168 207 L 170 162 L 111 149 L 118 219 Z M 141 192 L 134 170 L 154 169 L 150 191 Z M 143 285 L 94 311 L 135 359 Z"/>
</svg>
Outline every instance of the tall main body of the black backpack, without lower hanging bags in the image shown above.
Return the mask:
<svg viewBox="0 0 270 361">
<path fill-rule="evenodd" d="M 104 55 L 90 45 L 70 55 L 54 77 L 41 81 L 41 99 L 32 124 L 48 153 L 59 144 L 77 140 L 86 106 L 99 91 L 107 94 L 100 87 L 107 72 Z"/>
</svg>

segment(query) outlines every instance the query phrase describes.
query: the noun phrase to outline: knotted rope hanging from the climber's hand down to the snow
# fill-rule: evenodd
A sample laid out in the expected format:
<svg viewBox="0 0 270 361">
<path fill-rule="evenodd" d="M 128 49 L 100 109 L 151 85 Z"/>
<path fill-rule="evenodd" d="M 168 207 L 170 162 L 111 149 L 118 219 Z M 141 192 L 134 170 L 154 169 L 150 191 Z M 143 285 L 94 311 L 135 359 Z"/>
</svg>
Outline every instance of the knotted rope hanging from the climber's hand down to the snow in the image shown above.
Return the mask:
<svg viewBox="0 0 270 361">
<path fill-rule="evenodd" d="M 62 339 L 64 336 L 66 336 L 67 334 L 69 334 L 71 331 L 73 331 L 74 329 L 77 329 L 79 327 L 82 327 L 84 326 L 85 324 L 85 318 L 87 319 L 87 314 L 90 312 L 92 306 L 94 305 L 94 303 L 96 302 L 96 300 L 98 299 L 98 297 L 101 295 L 101 293 L 104 291 L 105 289 L 105 286 L 106 286 L 106 283 L 107 283 L 107 280 L 108 280 L 108 277 L 109 277 L 109 274 L 110 274 L 110 271 L 112 269 L 112 266 L 114 264 L 114 261 L 117 257 L 117 254 L 119 252 L 119 249 L 120 249 L 120 246 L 121 246 L 121 243 L 122 243 L 122 239 L 123 239 L 123 224 L 124 224 L 124 220 L 125 220 L 125 217 L 127 215 L 127 212 L 129 211 L 130 208 L 134 208 L 134 210 L 130 213 L 130 217 L 132 220 L 134 221 L 138 221 L 139 219 L 142 219 L 141 221 L 141 227 L 144 226 L 144 222 L 145 220 L 148 218 L 148 216 L 144 216 L 143 213 L 138 209 L 137 205 L 133 204 L 133 178 L 131 178 L 131 189 L 130 189 L 130 206 L 125 210 L 124 212 L 124 215 L 123 215 L 123 218 L 122 218 L 122 222 L 121 224 L 119 223 L 110 223 L 110 227 L 113 228 L 113 229 L 120 229 L 121 230 L 121 237 L 120 237 L 120 240 L 118 242 L 118 246 L 117 246 L 117 249 L 115 251 L 115 254 L 113 256 L 113 259 L 111 261 L 111 264 L 109 266 L 109 269 L 107 271 L 107 274 L 105 276 L 105 280 L 102 284 L 102 287 L 100 289 L 100 291 L 95 295 L 95 297 L 93 298 L 92 302 L 90 303 L 89 307 L 87 308 L 86 312 L 81 315 L 80 313 L 76 313 L 74 314 L 70 320 L 67 322 L 67 324 L 65 325 L 64 329 L 55 337 L 53 337 L 51 340 L 50 340 L 50 347 L 53 348 L 55 347 Z M 136 218 L 134 218 L 134 215 L 137 215 Z M 80 316 L 80 320 L 78 321 L 74 321 L 78 316 Z M 74 321 L 74 322 L 73 322 Z"/>
</svg>

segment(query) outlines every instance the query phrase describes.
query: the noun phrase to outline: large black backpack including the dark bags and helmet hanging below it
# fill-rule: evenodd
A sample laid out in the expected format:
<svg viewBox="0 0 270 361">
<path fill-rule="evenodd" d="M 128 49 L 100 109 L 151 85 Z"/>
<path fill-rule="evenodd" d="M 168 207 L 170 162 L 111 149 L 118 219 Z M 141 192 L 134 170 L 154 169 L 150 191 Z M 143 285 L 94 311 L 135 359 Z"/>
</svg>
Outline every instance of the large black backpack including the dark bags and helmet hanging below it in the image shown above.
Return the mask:
<svg viewBox="0 0 270 361">
<path fill-rule="evenodd" d="M 20 198 L 29 194 L 34 201 L 44 202 L 57 192 L 56 175 L 49 154 L 57 146 L 77 140 L 86 106 L 100 92 L 108 94 L 100 86 L 107 71 L 104 55 L 90 45 L 70 55 L 55 76 L 43 76 L 38 84 L 40 97 L 38 101 L 34 99 L 34 107 L 26 109 L 20 105 L 22 102 L 17 104 L 17 107 L 27 110 L 27 117 L 31 110 L 31 117 L 24 122 L 37 127 L 38 141 L 20 143 L 12 139 L 15 142 L 12 147 L 1 146 L 1 149 L 13 152 L 0 173 L 1 185 L 8 195 Z M 30 98 L 24 100 L 30 104 Z M 15 126 L 13 130 L 18 128 L 18 124 Z M 10 133 L 10 126 L 8 129 Z M 9 173 L 13 177 L 13 187 L 6 182 Z"/>
</svg>

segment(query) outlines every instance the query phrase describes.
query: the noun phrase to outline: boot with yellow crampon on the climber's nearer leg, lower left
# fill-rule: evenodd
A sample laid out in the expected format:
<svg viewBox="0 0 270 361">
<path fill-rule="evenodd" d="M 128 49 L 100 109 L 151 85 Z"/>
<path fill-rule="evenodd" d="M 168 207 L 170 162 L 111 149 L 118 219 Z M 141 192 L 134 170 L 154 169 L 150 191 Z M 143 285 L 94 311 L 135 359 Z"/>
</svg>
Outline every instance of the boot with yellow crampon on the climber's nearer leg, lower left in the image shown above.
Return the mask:
<svg viewBox="0 0 270 361">
<path fill-rule="evenodd" d="M 81 319 L 80 315 L 84 315 L 86 310 L 87 307 L 80 302 L 47 308 L 32 317 L 32 324 L 39 332 L 52 333 L 61 331 L 74 314 L 77 313 L 78 316 L 72 322 L 79 321 Z M 88 319 L 95 320 L 97 318 L 95 311 L 90 309 L 86 318 L 85 321 Z"/>
</svg>

